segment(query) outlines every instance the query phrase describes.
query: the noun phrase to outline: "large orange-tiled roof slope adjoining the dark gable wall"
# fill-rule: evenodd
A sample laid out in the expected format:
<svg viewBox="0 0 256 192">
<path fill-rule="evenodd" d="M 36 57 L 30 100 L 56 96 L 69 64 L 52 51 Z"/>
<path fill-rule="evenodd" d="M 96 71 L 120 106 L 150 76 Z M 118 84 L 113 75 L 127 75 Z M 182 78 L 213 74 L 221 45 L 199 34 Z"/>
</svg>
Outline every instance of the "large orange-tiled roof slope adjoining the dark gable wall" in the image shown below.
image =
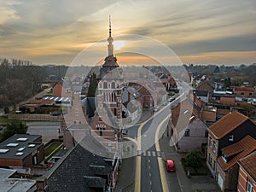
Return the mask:
<svg viewBox="0 0 256 192">
<path fill-rule="evenodd" d="M 209 130 L 215 135 L 215 137 L 217 137 L 217 139 L 220 139 L 230 131 L 235 130 L 236 127 L 243 124 L 247 119 L 249 119 L 247 116 L 238 112 L 228 113 L 210 126 Z"/>
</svg>

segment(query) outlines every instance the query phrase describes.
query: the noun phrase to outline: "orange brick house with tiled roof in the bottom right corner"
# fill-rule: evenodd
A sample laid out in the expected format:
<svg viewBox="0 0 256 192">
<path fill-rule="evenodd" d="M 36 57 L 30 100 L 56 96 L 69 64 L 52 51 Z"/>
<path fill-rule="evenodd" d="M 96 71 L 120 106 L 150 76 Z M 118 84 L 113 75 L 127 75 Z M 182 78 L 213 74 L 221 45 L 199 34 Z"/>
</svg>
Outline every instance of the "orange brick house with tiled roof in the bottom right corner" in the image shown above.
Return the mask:
<svg viewBox="0 0 256 192">
<path fill-rule="evenodd" d="M 256 152 L 248 154 L 238 161 L 239 176 L 237 191 L 238 192 L 255 192 L 256 191 Z"/>
</svg>

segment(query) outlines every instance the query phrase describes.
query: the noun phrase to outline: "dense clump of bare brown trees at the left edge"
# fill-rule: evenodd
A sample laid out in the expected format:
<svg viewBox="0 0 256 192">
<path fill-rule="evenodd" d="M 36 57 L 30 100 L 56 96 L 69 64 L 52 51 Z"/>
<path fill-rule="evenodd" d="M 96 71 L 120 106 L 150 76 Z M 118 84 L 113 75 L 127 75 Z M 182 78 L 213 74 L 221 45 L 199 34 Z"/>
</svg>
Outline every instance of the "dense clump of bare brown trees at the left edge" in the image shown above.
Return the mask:
<svg viewBox="0 0 256 192">
<path fill-rule="evenodd" d="M 0 108 L 12 106 L 34 96 L 44 79 L 42 67 L 31 61 L 0 59 Z"/>
</svg>

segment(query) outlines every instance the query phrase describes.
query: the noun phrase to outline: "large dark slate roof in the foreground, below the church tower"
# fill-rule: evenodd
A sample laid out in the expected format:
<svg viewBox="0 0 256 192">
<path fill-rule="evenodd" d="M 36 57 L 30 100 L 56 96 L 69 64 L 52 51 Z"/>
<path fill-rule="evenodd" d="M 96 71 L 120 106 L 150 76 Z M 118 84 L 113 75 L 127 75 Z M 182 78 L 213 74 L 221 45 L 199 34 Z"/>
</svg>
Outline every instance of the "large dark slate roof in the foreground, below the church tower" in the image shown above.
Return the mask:
<svg viewBox="0 0 256 192">
<path fill-rule="evenodd" d="M 98 156 L 86 148 L 103 156 Z M 106 178 L 111 176 L 113 168 L 104 160 L 106 156 L 113 159 L 113 154 L 108 153 L 94 137 L 85 136 L 81 143 L 57 161 L 49 172 L 38 178 L 38 181 L 47 178 L 46 192 L 91 192 L 93 189 L 90 187 L 103 187 L 103 184 L 106 186 Z"/>
</svg>

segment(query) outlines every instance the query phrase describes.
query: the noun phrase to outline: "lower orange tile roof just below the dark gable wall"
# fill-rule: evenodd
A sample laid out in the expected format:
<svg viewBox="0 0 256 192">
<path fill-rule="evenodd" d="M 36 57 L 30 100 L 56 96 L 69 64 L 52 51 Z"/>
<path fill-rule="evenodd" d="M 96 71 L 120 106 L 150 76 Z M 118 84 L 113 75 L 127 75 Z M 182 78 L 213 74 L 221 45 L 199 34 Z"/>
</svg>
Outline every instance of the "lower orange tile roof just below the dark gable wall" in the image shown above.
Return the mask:
<svg viewBox="0 0 256 192">
<path fill-rule="evenodd" d="M 235 166 L 238 160 L 253 153 L 256 150 L 256 140 L 253 137 L 247 136 L 241 139 L 240 142 L 234 143 L 226 148 L 222 149 L 222 152 L 226 157 L 235 155 L 230 161 L 225 162 L 222 157 L 218 157 L 218 163 L 224 171 L 230 169 L 230 167 Z"/>
</svg>

